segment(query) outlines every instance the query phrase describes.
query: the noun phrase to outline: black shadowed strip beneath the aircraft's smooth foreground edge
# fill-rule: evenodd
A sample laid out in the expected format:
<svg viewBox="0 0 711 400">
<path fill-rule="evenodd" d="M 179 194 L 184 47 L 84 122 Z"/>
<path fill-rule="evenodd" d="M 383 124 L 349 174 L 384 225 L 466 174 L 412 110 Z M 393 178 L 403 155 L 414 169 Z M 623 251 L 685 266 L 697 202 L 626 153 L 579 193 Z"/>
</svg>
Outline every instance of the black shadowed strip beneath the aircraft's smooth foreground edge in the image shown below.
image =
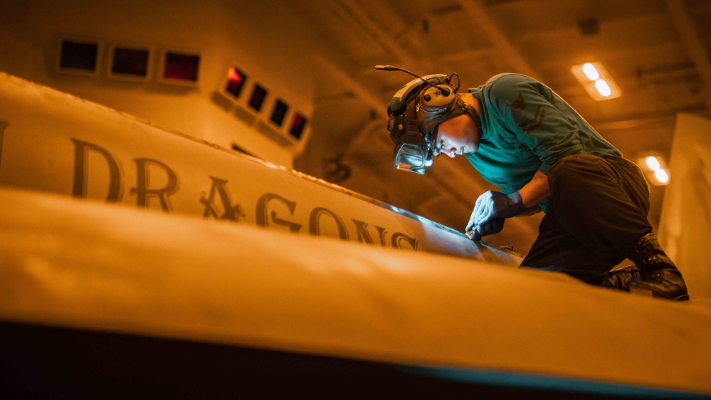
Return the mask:
<svg viewBox="0 0 711 400">
<path fill-rule="evenodd" d="M 662 399 L 679 395 L 593 382 L 588 386 L 602 387 L 607 391 L 599 393 L 611 394 L 540 389 L 540 377 L 519 377 L 518 384 L 502 384 L 509 375 L 502 372 L 495 373 L 499 379 L 487 384 L 466 378 L 475 372 L 465 369 L 9 322 L 0 322 L 0 354 L 0 397 L 4 399 L 234 399 L 295 394 L 330 398 Z M 546 379 L 551 387 L 561 380 Z"/>
</svg>

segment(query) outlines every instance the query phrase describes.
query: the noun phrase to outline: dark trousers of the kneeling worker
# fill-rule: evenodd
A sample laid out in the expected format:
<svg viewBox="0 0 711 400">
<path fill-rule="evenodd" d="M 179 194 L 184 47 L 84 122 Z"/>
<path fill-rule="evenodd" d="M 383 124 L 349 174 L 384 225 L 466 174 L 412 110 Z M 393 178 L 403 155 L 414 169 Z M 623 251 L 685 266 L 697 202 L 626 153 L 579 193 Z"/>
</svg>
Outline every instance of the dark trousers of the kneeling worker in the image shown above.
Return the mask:
<svg viewBox="0 0 711 400">
<path fill-rule="evenodd" d="M 622 157 L 565 157 L 550 170 L 548 184 L 552 204 L 522 267 L 601 285 L 637 239 L 652 231 L 647 183 Z"/>
</svg>

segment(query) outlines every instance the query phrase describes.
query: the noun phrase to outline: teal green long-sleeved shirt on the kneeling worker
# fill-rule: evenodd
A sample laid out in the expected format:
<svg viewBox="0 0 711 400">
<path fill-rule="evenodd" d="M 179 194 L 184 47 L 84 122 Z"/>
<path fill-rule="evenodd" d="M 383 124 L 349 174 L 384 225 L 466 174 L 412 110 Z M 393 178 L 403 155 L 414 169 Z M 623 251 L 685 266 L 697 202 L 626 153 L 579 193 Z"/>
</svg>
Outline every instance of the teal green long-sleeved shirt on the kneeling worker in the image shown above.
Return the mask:
<svg viewBox="0 0 711 400">
<path fill-rule="evenodd" d="M 496 75 L 469 93 L 479 102 L 479 149 L 466 154 L 484 179 L 510 194 L 563 157 L 621 156 L 565 100 L 525 75 Z M 541 204 L 547 210 L 548 201 Z"/>
</svg>

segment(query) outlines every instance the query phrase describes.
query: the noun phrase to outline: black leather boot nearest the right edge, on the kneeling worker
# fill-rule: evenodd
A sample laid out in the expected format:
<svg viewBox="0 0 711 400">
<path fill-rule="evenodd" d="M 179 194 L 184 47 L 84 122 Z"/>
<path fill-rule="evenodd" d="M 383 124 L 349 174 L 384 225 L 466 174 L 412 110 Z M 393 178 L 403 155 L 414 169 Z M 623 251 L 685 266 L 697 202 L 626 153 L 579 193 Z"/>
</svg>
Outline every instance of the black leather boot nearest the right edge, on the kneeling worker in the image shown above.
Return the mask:
<svg viewBox="0 0 711 400">
<path fill-rule="evenodd" d="M 629 283 L 630 292 L 651 294 L 653 298 L 689 300 L 684 278 L 659 246 L 654 233 L 639 238 L 628 257 L 638 266 L 641 275 L 641 280 Z"/>
</svg>

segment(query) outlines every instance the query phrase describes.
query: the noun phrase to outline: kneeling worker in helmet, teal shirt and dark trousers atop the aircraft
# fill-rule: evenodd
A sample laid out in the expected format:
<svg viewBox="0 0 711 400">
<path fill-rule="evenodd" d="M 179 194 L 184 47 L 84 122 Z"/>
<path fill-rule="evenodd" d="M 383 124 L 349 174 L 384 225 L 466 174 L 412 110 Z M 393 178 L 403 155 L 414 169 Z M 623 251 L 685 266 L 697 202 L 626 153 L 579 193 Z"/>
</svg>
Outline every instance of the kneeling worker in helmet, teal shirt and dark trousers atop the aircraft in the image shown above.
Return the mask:
<svg viewBox="0 0 711 400">
<path fill-rule="evenodd" d="M 426 75 L 394 95 L 387 109 L 394 169 L 424 174 L 433 157 L 466 157 L 500 188 L 476 199 L 465 228 L 473 240 L 500 232 L 506 219 L 543 211 L 522 266 L 688 300 L 647 219 L 649 191 L 636 164 L 537 80 L 503 73 L 467 93 L 458 89 L 456 74 Z M 611 271 L 625 258 L 634 265 Z"/>
</svg>

